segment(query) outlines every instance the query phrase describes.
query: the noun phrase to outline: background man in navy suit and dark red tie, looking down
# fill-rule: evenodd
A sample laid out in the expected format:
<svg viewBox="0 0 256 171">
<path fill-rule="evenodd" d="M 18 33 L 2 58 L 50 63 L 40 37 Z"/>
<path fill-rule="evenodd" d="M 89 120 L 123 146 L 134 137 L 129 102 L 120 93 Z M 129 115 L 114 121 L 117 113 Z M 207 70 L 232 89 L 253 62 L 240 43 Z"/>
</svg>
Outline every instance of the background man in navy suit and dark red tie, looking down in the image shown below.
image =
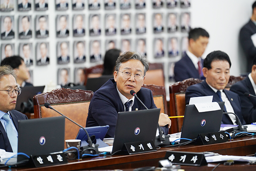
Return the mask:
<svg viewBox="0 0 256 171">
<path fill-rule="evenodd" d="M 204 60 L 201 56 L 209 42 L 209 34 L 205 29 L 195 28 L 189 32 L 189 47 L 183 58 L 177 61 L 174 67 L 175 81 L 187 78 L 204 79 L 202 68 Z"/>
</svg>

